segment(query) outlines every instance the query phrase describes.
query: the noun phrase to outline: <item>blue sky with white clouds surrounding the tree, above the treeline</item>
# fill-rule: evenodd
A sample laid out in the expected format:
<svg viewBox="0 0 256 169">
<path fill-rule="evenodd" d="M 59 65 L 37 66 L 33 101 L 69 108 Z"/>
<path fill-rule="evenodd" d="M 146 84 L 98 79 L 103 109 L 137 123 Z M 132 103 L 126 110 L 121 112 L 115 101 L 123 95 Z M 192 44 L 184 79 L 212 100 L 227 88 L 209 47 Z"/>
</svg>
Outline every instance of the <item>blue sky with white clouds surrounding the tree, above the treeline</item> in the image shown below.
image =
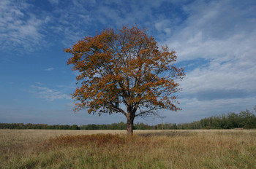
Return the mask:
<svg viewBox="0 0 256 169">
<path fill-rule="evenodd" d="M 122 114 L 74 114 L 75 72 L 64 49 L 104 28 L 137 23 L 185 68 L 182 111 L 135 122 L 192 122 L 256 105 L 256 1 L 1 0 L 0 122 L 109 124 Z"/>
</svg>

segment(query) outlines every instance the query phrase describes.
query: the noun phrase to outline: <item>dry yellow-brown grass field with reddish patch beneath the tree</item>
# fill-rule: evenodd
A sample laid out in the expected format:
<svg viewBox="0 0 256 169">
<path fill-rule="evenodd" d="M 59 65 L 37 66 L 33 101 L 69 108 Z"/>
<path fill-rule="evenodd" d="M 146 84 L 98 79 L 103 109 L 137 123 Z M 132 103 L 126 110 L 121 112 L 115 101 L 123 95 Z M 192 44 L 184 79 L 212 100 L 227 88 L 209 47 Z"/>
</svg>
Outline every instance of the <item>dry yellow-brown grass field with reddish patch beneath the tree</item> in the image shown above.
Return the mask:
<svg viewBox="0 0 256 169">
<path fill-rule="evenodd" d="M 0 130 L 0 168 L 256 168 L 256 130 Z"/>
</svg>

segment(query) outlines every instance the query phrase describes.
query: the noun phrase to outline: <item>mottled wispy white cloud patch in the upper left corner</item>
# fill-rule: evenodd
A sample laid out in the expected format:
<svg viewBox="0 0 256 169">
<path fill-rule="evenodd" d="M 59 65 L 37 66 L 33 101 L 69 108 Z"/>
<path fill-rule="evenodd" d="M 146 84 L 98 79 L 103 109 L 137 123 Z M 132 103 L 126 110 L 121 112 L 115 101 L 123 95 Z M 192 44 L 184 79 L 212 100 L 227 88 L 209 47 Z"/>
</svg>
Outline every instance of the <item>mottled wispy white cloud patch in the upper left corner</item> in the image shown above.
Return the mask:
<svg viewBox="0 0 256 169">
<path fill-rule="evenodd" d="M 42 45 L 49 17 L 29 12 L 33 7 L 25 1 L 0 1 L 1 50 L 34 50 Z"/>
</svg>

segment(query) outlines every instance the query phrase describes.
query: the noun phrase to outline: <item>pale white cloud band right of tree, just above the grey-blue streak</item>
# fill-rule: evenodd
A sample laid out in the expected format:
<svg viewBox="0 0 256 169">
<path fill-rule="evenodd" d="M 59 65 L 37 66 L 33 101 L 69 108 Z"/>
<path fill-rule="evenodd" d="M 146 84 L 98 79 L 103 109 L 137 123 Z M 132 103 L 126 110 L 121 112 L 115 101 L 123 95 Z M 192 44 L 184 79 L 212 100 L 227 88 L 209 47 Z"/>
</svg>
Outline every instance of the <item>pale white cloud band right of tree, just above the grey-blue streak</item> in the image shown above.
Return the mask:
<svg viewBox="0 0 256 169">
<path fill-rule="evenodd" d="M 248 60 L 249 62 L 249 60 Z M 244 67 L 244 64 L 246 65 Z M 181 87 L 184 93 L 199 93 L 206 90 L 256 91 L 256 67 L 241 60 L 227 63 L 211 61 L 208 67 L 196 68 L 187 73 Z"/>
</svg>

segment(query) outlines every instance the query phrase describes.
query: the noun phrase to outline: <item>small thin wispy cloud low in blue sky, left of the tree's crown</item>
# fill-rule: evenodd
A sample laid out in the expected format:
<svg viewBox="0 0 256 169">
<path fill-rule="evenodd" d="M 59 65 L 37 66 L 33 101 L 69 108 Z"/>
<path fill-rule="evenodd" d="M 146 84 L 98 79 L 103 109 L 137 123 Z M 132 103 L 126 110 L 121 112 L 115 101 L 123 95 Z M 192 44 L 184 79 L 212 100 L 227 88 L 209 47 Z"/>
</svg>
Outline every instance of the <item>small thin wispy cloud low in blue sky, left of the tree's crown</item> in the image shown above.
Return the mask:
<svg viewBox="0 0 256 169">
<path fill-rule="evenodd" d="M 61 93 L 59 90 L 49 89 L 48 87 L 31 85 L 31 89 L 38 98 L 44 98 L 47 101 L 54 101 L 56 99 L 71 99 L 70 95 Z"/>
</svg>

